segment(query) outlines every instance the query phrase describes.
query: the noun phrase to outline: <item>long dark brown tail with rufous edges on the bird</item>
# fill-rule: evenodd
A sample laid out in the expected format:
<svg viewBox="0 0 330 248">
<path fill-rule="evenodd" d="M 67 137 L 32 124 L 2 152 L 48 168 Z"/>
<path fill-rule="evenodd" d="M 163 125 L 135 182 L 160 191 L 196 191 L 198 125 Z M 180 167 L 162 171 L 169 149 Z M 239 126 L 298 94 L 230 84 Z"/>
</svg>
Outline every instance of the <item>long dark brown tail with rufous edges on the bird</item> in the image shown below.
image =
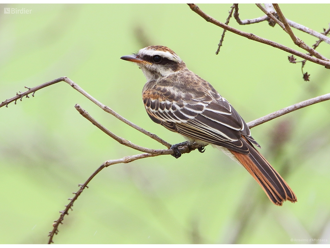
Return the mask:
<svg viewBox="0 0 330 248">
<path fill-rule="evenodd" d="M 237 151 L 229 151 L 247 169 L 251 176 L 257 181 L 267 194 L 268 198 L 278 206 L 282 206 L 283 201 L 296 202 L 292 189 L 287 185 L 280 174 L 268 163 L 268 161 L 253 147 L 253 145 L 242 136 L 242 142 L 248 145 L 249 155 Z"/>
</svg>

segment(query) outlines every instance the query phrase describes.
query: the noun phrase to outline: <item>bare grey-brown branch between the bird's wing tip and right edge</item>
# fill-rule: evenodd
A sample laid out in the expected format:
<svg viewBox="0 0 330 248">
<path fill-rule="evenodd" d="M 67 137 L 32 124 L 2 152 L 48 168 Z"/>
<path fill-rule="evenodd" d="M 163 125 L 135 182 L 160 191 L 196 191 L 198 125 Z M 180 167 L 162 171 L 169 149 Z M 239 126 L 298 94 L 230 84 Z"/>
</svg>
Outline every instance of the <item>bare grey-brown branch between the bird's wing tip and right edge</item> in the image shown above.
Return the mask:
<svg viewBox="0 0 330 248">
<path fill-rule="evenodd" d="M 298 110 L 300 108 L 307 107 L 307 106 L 313 105 L 315 103 L 321 103 L 321 102 L 324 102 L 324 101 L 327 101 L 327 100 L 330 100 L 330 93 L 326 94 L 326 95 L 323 95 L 323 96 L 319 96 L 319 97 L 315 97 L 315 98 L 303 101 L 301 103 L 293 104 L 293 105 L 291 105 L 289 107 L 286 107 L 286 108 L 282 108 L 281 110 L 275 111 L 271 114 L 267 114 L 264 117 L 261 117 L 259 119 L 254 120 L 254 121 L 250 121 L 247 124 L 248 124 L 249 128 L 252 128 L 252 127 L 258 126 L 260 124 L 263 124 L 267 121 L 273 120 L 277 117 L 280 117 L 284 114 L 287 114 L 287 113 L 293 112 L 295 110 Z"/>
</svg>

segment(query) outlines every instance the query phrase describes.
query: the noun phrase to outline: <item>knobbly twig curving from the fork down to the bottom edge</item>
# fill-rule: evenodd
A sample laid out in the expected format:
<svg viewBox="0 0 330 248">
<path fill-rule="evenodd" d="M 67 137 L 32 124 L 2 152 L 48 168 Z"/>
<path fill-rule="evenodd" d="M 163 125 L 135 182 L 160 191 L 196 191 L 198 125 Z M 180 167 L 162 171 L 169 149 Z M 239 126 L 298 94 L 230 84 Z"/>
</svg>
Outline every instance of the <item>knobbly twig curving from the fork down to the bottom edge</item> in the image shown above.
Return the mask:
<svg viewBox="0 0 330 248">
<path fill-rule="evenodd" d="M 53 243 L 53 236 L 54 234 L 58 233 L 58 226 L 59 224 L 63 224 L 62 221 L 64 219 L 65 215 L 68 215 L 69 210 L 73 210 L 73 203 L 77 200 L 78 196 L 80 196 L 80 194 L 82 193 L 82 191 L 84 190 L 84 188 L 88 188 L 87 184 L 104 168 L 113 165 L 113 164 L 119 164 L 119 163 L 129 163 L 132 161 L 135 161 L 137 159 L 141 159 L 141 158 L 147 158 L 147 157 L 154 157 L 154 156 L 158 156 L 159 154 L 150 154 L 150 153 L 143 153 L 143 154 L 138 154 L 138 155 L 133 155 L 133 156 L 128 156 L 128 157 L 123 157 L 120 159 L 115 159 L 115 160 L 108 160 L 105 161 L 87 180 L 84 184 L 79 185 L 80 189 L 77 192 L 74 192 L 73 194 L 75 195 L 73 198 L 69 198 L 68 200 L 70 200 L 70 203 L 68 205 L 65 206 L 65 209 L 63 211 L 60 211 L 60 217 L 54 221 L 53 224 L 53 229 L 52 231 L 49 232 L 49 241 L 48 244 Z"/>
</svg>

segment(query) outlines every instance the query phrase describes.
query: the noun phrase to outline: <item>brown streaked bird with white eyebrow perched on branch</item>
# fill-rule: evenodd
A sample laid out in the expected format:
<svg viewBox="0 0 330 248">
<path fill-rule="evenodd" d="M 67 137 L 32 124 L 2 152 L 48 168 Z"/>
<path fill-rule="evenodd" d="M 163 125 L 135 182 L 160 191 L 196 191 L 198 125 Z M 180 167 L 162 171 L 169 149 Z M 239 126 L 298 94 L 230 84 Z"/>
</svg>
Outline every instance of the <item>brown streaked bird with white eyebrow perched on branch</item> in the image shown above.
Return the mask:
<svg viewBox="0 0 330 248">
<path fill-rule="evenodd" d="M 181 156 L 181 145 L 195 142 L 204 152 L 211 144 L 245 167 L 275 205 L 297 201 L 292 189 L 255 148 L 261 147 L 243 118 L 175 52 L 166 46 L 148 46 L 120 59 L 136 63 L 147 78 L 142 99 L 150 119 L 187 140 L 170 148 L 176 158 Z"/>
</svg>

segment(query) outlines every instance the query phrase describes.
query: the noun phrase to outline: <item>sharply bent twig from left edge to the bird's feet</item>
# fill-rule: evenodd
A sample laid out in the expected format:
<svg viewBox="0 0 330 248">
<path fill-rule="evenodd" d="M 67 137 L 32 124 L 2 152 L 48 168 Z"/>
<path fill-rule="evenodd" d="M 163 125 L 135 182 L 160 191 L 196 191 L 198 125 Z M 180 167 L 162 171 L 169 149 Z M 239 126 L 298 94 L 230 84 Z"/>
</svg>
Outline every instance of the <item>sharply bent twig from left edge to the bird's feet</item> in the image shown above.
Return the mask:
<svg viewBox="0 0 330 248">
<path fill-rule="evenodd" d="M 16 104 L 16 101 L 18 99 L 20 99 L 20 101 L 22 101 L 22 98 L 23 97 L 28 97 L 29 94 L 32 93 L 32 96 L 34 96 L 34 93 L 40 89 L 43 89 L 49 85 L 52 85 L 52 84 L 55 84 L 55 83 L 58 83 L 58 82 L 66 82 L 68 83 L 69 85 L 72 86 L 72 88 L 74 88 L 75 90 L 77 90 L 78 92 L 80 92 L 83 96 L 85 96 L 86 98 L 88 98 L 90 101 L 92 101 L 93 103 L 95 103 L 96 105 L 98 105 L 100 108 L 102 108 L 104 111 L 106 111 L 107 113 L 110 113 L 112 114 L 113 116 L 115 116 L 117 119 L 121 120 L 122 122 L 124 122 L 125 124 L 129 125 L 130 127 L 140 131 L 141 133 L 149 136 L 151 139 L 154 139 L 155 141 L 159 142 L 160 144 L 162 145 L 165 145 L 167 148 L 170 148 L 171 147 L 171 144 L 169 144 L 168 142 L 164 141 L 163 139 L 159 138 L 157 135 L 155 134 L 152 134 L 150 132 L 148 132 L 147 130 L 139 127 L 138 125 L 135 125 L 134 123 L 130 122 L 129 120 L 125 119 L 124 117 L 122 117 L 121 115 L 117 114 L 114 110 L 112 110 L 111 108 L 109 108 L 108 106 L 100 103 L 99 101 L 97 101 L 95 98 L 93 98 L 91 95 L 89 95 L 86 91 L 84 91 L 82 88 L 79 87 L 78 84 L 74 83 L 71 79 L 67 78 L 67 77 L 60 77 L 60 78 L 57 78 L 55 80 L 52 80 L 52 81 L 49 81 L 47 83 L 44 83 L 44 84 L 41 84 L 41 85 L 38 85 L 34 88 L 28 88 L 29 90 L 27 90 L 26 92 L 20 92 L 20 93 L 16 93 L 16 96 L 11 98 L 11 99 L 7 99 L 6 101 L 2 102 L 0 104 L 0 107 L 3 107 L 3 106 L 6 106 L 8 107 L 8 104 L 9 103 L 12 103 L 15 101 L 15 104 Z M 26 87 L 27 88 L 27 87 Z"/>
</svg>

